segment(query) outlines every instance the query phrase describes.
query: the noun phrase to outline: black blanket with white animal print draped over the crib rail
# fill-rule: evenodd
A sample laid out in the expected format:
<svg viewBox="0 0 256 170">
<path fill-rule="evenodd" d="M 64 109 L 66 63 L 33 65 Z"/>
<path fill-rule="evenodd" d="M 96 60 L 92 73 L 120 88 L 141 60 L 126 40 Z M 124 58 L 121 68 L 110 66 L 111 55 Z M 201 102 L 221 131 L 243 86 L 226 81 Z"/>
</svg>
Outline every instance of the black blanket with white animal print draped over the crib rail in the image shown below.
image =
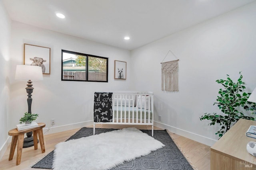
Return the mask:
<svg viewBox="0 0 256 170">
<path fill-rule="evenodd" d="M 94 122 L 112 122 L 112 94 L 94 93 Z"/>
</svg>

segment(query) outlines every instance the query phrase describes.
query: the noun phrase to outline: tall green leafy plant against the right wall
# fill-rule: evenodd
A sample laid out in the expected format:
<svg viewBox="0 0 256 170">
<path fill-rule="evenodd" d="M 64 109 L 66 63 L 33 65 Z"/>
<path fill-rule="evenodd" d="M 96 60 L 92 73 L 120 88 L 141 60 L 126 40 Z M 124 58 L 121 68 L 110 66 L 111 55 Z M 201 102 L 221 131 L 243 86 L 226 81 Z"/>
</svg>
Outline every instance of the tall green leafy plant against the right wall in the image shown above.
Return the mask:
<svg viewBox="0 0 256 170">
<path fill-rule="evenodd" d="M 217 83 L 222 84 L 224 89 L 219 90 L 219 96 L 217 96 L 217 102 L 213 105 L 217 105 L 222 111 L 222 114 L 217 113 L 204 113 L 200 117 L 200 120 L 210 120 L 209 125 L 215 125 L 215 123 L 220 124 L 220 131 L 217 131 L 215 135 L 222 137 L 230 127 L 236 123 L 239 119 L 249 119 L 255 120 L 254 117 L 246 116 L 242 113 L 245 110 L 255 110 L 256 104 L 253 102 L 248 102 L 247 99 L 250 93 L 244 92 L 246 88 L 245 83 L 242 81 L 242 74 L 239 72 L 240 77 L 237 82 L 231 80 L 227 74 L 227 80 L 216 80 Z M 224 114 L 223 114 L 224 113 Z M 255 113 L 254 113 L 255 114 Z"/>
</svg>

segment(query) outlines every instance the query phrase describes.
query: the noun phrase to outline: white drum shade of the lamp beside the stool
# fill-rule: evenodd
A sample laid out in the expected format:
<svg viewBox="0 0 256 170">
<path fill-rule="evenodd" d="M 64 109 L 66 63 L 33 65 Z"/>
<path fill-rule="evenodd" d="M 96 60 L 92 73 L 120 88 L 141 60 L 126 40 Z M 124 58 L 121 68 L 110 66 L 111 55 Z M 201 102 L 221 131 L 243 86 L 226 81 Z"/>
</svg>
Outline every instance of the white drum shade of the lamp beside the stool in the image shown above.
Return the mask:
<svg viewBox="0 0 256 170">
<path fill-rule="evenodd" d="M 43 80 L 42 67 L 17 65 L 15 80 Z"/>
</svg>

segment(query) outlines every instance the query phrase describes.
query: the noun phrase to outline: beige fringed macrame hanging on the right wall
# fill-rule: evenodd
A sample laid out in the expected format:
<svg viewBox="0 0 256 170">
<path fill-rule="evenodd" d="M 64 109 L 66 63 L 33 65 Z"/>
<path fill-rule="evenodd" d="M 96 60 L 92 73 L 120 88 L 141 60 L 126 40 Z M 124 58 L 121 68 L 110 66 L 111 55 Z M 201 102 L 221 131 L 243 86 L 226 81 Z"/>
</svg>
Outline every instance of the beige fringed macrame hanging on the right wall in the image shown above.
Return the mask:
<svg viewBox="0 0 256 170">
<path fill-rule="evenodd" d="M 169 50 L 166 56 L 170 52 L 172 53 L 172 51 Z M 172 54 L 174 55 L 174 53 Z M 166 58 L 166 56 L 164 57 L 164 59 Z M 175 55 L 174 57 L 177 59 Z M 179 91 L 179 88 L 178 88 L 179 59 L 174 61 L 167 61 L 164 63 L 163 61 L 161 63 L 162 64 L 162 90 L 170 91 L 170 92 L 178 92 Z"/>
</svg>

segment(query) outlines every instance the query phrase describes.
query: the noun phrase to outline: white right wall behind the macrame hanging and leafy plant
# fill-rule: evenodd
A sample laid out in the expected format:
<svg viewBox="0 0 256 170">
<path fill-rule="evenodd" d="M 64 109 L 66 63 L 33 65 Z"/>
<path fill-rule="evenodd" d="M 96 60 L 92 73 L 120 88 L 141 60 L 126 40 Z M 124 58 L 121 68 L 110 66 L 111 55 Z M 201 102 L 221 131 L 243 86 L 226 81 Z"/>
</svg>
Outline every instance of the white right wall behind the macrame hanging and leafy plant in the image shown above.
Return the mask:
<svg viewBox="0 0 256 170">
<path fill-rule="evenodd" d="M 155 125 L 207 145 L 218 139 L 219 128 L 199 117 L 220 113 L 215 81 L 226 74 L 237 80 L 242 71 L 246 92 L 256 87 L 255 9 L 256 2 L 132 51 L 133 88 L 154 92 Z M 160 63 L 169 50 L 180 59 L 179 92 L 161 91 Z M 171 54 L 164 61 L 170 60 Z"/>
</svg>

